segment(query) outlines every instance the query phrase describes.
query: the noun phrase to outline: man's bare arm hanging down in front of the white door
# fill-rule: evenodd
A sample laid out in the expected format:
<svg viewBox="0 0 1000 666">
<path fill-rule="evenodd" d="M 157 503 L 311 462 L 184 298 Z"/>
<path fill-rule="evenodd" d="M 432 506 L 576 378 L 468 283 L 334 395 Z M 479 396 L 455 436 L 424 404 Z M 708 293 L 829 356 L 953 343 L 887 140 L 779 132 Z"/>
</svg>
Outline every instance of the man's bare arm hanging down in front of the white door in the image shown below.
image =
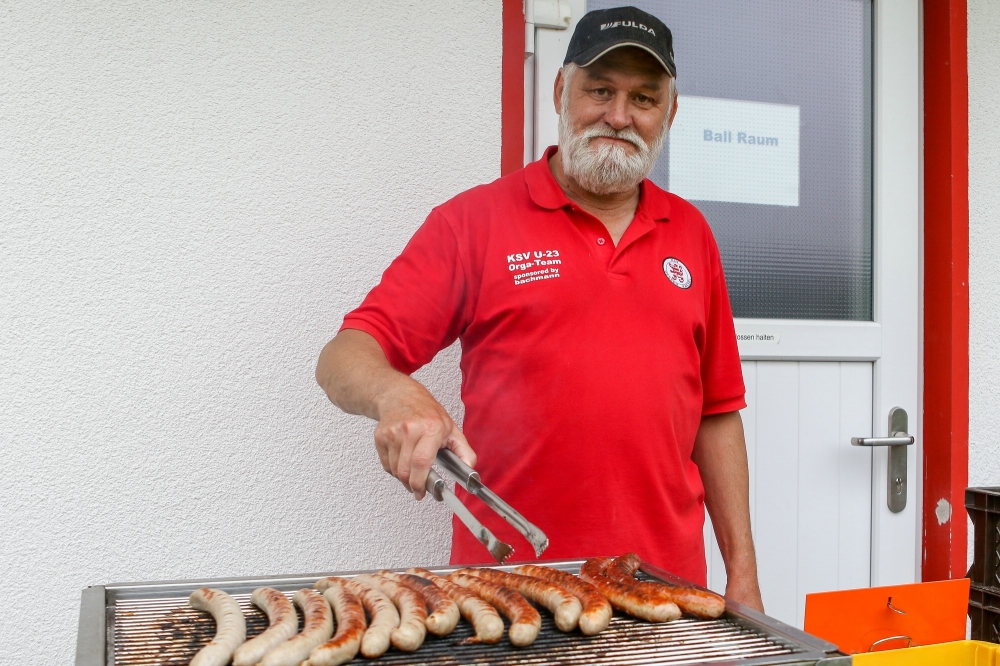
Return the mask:
<svg viewBox="0 0 1000 666">
<path fill-rule="evenodd" d="M 705 486 L 705 506 L 726 563 L 726 596 L 764 610 L 750 533 L 750 473 L 739 412 L 701 417 L 692 460 Z"/>
</svg>

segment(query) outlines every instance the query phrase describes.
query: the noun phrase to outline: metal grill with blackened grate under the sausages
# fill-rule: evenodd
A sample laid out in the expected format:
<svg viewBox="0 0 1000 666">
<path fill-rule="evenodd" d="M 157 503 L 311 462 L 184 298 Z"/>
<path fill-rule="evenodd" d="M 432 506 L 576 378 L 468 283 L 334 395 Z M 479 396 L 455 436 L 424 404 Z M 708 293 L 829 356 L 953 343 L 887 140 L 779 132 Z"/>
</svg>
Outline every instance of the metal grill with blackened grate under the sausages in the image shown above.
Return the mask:
<svg viewBox="0 0 1000 666">
<path fill-rule="evenodd" d="M 547 562 L 576 572 L 580 561 Z M 512 566 L 496 567 L 510 570 Z M 452 568 L 433 569 L 447 573 Z M 188 606 L 188 595 L 203 586 L 229 592 L 247 618 L 247 638 L 267 627 L 267 617 L 250 603 L 250 592 L 274 587 L 289 597 L 328 575 L 312 574 L 274 578 L 230 578 L 162 583 L 129 583 L 88 587 L 83 591 L 77 666 L 187 666 L 195 653 L 215 635 L 215 621 Z M 642 574 L 651 580 L 678 584 L 684 581 L 652 566 Z M 300 619 L 301 622 L 301 619 Z M 611 626 L 597 636 L 564 634 L 556 630 L 551 615 L 542 612 L 542 631 L 527 648 L 506 641 L 496 645 L 455 645 L 472 634 L 465 622 L 450 636 L 428 634 L 413 653 L 395 650 L 379 659 L 357 657 L 358 664 L 816 664 L 850 663 L 837 657 L 836 646 L 794 627 L 738 604 L 729 603 L 716 620 L 683 617 L 665 624 L 651 624 L 615 615 Z"/>
</svg>

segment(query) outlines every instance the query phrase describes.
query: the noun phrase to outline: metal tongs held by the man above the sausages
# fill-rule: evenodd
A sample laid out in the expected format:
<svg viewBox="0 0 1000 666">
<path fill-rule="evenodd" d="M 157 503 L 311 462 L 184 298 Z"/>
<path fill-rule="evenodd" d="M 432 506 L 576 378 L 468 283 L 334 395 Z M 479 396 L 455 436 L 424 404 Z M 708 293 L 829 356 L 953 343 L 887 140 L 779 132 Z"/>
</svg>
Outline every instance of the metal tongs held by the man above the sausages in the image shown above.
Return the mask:
<svg viewBox="0 0 1000 666">
<path fill-rule="evenodd" d="M 497 512 L 514 529 L 523 534 L 524 538 L 534 547 L 535 557 L 540 556 L 542 551 L 548 548 L 549 538 L 545 536 L 545 532 L 542 532 L 535 525 L 529 523 L 514 507 L 504 502 L 500 499 L 499 495 L 487 488 L 483 484 L 482 479 L 479 478 L 479 473 L 462 462 L 462 459 L 453 451 L 438 449 L 437 462 L 444 471 L 455 478 L 458 485 L 481 499 L 486 506 Z M 510 544 L 496 538 L 485 525 L 472 515 L 468 507 L 462 504 L 453 492 L 448 490 L 444 479 L 433 469 L 427 474 L 427 492 L 437 501 L 447 504 L 455 515 L 458 516 L 458 519 L 469 528 L 472 535 L 489 549 L 490 555 L 497 562 L 503 564 L 514 553 L 514 548 Z"/>
</svg>

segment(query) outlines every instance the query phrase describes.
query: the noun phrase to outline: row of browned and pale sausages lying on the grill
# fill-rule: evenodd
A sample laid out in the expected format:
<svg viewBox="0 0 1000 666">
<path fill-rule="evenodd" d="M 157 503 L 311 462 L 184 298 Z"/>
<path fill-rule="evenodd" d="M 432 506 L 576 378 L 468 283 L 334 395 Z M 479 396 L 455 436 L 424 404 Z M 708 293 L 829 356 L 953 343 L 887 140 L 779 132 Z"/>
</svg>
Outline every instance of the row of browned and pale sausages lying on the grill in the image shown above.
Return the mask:
<svg viewBox="0 0 1000 666">
<path fill-rule="evenodd" d="M 317 581 L 315 590 L 295 593 L 293 601 L 304 618 L 301 632 L 288 598 L 273 588 L 259 588 L 251 601 L 267 614 L 269 626 L 249 641 L 236 601 L 220 590 L 201 588 L 190 603 L 210 612 L 217 630 L 191 666 L 224 666 L 230 660 L 234 666 L 336 666 L 359 652 L 378 657 L 390 645 L 412 652 L 427 632 L 450 634 L 460 616 L 475 632 L 461 643 L 497 643 L 504 630 L 501 613 L 510 622 L 508 640 L 523 647 L 541 630 L 541 616 L 529 600 L 550 611 L 560 631 L 579 628 L 588 636 L 608 626 L 613 607 L 651 622 L 676 619 L 682 611 L 718 617 L 725 610 L 722 598 L 710 592 L 636 580 L 639 564 L 633 553 L 592 558 L 579 578 L 537 565 L 519 566 L 513 573 L 459 569 L 447 577 L 426 569 L 352 579 L 331 576 Z"/>
</svg>

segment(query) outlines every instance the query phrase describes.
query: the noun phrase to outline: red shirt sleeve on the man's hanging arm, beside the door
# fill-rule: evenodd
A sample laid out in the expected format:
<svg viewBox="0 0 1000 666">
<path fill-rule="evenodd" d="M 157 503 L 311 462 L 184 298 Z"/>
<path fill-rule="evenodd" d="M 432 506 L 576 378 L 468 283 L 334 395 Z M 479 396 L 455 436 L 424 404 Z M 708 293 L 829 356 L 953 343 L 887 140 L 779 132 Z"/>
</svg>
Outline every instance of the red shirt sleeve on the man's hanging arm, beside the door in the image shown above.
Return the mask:
<svg viewBox="0 0 1000 666">
<path fill-rule="evenodd" d="M 711 233 L 709 232 L 711 239 Z M 701 381 L 704 400 L 701 413 L 724 414 L 747 406 L 743 367 L 736 346 L 736 326 L 726 289 L 726 276 L 714 239 L 712 252 L 712 288 L 708 304 L 705 348 L 701 355 Z"/>
</svg>

